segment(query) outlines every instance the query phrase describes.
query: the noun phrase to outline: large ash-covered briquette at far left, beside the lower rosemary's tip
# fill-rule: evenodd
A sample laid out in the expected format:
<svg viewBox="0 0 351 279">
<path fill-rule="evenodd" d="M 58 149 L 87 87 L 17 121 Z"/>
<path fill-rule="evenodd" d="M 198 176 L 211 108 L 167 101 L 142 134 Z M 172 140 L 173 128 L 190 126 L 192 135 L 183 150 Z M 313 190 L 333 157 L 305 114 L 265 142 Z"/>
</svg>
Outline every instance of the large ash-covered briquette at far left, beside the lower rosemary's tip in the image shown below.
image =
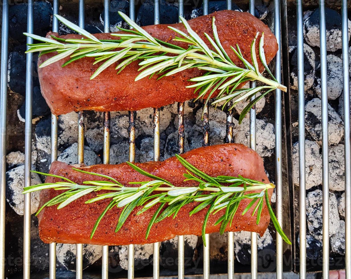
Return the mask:
<svg viewBox="0 0 351 279">
<path fill-rule="evenodd" d="M 41 183 L 37 173 L 31 173 L 31 178 L 31 185 Z M 24 166 L 15 167 L 6 172 L 6 200 L 18 215 L 24 214 L 24 195 L 22 194 L 24 181 Z M 39 192 L 33 192 L 31 194 L 31 214 L 37 212 L 38 206 Z"/>
</svg>

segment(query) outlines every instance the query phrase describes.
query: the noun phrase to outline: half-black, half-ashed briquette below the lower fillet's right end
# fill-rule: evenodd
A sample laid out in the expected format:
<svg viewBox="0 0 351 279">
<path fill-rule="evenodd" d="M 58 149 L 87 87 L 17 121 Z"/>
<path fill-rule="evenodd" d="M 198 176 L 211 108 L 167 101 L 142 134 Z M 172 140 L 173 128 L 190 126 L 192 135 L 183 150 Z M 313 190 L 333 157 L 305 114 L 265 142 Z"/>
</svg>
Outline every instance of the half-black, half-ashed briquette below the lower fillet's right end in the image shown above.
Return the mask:
<svg viewBox="0 0 351 279">
<path fill-rule="evenodd" d="M 269 266 L 270 260 L 275 258 L 275 245 L 269 229 L 265 231 L 263 237 L 257 236 L 257 249 L 260 266 Z M 260 250 L 265 253 L 260 257 Z M 251 263 L 251 233 L 246 231 L 234 232 L 234 252 L 240 264 L 250 265 Z"/>
</svg>

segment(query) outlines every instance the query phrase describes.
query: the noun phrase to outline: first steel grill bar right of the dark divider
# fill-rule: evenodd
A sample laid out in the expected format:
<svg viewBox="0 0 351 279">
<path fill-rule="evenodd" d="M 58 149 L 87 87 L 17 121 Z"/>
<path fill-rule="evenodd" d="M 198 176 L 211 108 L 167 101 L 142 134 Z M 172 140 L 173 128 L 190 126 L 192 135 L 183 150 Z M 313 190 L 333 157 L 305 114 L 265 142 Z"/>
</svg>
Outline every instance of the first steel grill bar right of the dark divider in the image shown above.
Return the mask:
<svg viewBox="0 0 351 279">
<path fill-rule="evenodd" d="M 306 161 L 305 161 L 305 74 L 302 0 L 296 3 L 297 19 L 297 63 L 299 103 L 299 234 L 300 234 L 300 278 L 306 278 Z"/>
</svg>

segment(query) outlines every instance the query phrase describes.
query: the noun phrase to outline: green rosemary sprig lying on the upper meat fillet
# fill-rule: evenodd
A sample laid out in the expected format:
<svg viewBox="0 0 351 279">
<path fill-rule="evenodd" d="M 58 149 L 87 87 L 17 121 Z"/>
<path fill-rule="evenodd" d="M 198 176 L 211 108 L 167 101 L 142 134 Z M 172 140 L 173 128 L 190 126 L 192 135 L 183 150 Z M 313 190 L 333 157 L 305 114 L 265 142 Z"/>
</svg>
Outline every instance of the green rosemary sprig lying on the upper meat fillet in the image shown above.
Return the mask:
<svg viewBox="0 0 351 279">
<path fill-rule="evenodd" d="M 256 40 L 258 33 L 251 44 L 251 60 L 250 64 L 243 56 L 238 45 L 231 46 L 234 54 L 243 62 L 244 68 L 235 65 L 230 59 L 228 53 L 224 50 L 219 40 L 215 18 L 212 18 L 213 38 L 204 33 L 208 42 L 212 45 L 210 49 L 200 36 L 192 30 L 187 21 L 180 16 L 180 21 L 186 28 L 187 34 L 177 28 L 168 26 L 178 36 L 173 41 L 185 42 L 188 45 L 187 49 L 181 48 L 174 44 L 160 41 L 143 28 L 135 24 L 127 15 L 119 12 L 120 16 L 134 29 L 121 29 L 126 32 L 112 33 L 111 35 L 119 37 L 118 40 L 99 40 L 94 35 L 88 33 L 79 26 L 66 20 L 62 16 L 55 15 L 59 21 L 71 28 L 73 31 L 82 35 L 82 39 L 61 39 L 52 36 L 52 39 L 40 37 L 34 34 L 24 33 L 35 40 L 41 41 L 39 44 L 30 44 L 26 53 L 30 52 L 57 52 L 58 54 L 44 61 L 39 67 L 45 67 L 61 59 L 69 57 L 62 67 L 82 59 L 84 57 L 94 57 L 93 64 L 100 63 L 101 65 L 91 76 L 91 79 L 97 77 L 107 67 L 116 64 L 116 70 L 120 73 L 131 62 L 141 60 L 139 65 L 140 73 L 135 77 L 135 81 L 152 77 L 158 74 L 159 78 L 169 76 L 189 68 L 197 67 L 205 74 L 200 77 L 190 79 L 194 84 L 187 86 L 194 88 L 194 92 L 198 92 L 198 97 L 195 99 L 203 99 L 207 95 L 206 102 L 214 96 L 216 99 L 212 105 L 218 105 L 224 102 L 222 109 L 232 101 L 232 109 L 238 102 L 250 100 L 257 92 L 265 90 L 267 93 L 274 89 L 281 89 L 286 92 L 286 87 L 279 84 L 270 72 L 265 54 L 264 54 L 264 33 L 262 33 L 259 41 L 259 59 L 264 65 L 266 71 L 272 79 L 265 78 L 258 68 L 258 60 L 256 56 Z M 265 85 L 256 88 L 239 89 L 242 82 L 257 80 Z M 243 110 L 240 115 L 240 121 L 250 108 L 263 97 L 257 97 Z"/>
</svg>

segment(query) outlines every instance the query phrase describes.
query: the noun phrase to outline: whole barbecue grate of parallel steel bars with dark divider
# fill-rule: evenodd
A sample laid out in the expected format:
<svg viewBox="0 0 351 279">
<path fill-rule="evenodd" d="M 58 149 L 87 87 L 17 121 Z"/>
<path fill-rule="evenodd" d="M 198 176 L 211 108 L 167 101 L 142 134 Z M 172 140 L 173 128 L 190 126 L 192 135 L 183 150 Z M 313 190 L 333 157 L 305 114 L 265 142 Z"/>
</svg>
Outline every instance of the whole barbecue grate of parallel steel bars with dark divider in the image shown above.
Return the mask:
<svg viewBox="0 0 351 279">
<path fill-rule="evenodd" d="M 130 18 L 135 21 L 135 3 L 130 0 L 129 14 Z M 231 1 L 227 1 L 227 8 L 231 9 Z M 275 61 L 275 77 L 278 82 L 282 82 L 289 88 L 289 67 L 288 51 L 287 51 L 287 7 L 286 1 L 274 0 L 274 35 L 278 39 L 279 51 L 274 59 Z M 292 248 L 287 247 L 283 243 L 282 238 L 276 234 L 276 274 L 277 278 L 283 278 L 283 271 L 296 271 L 300 273 L 300 278 L 306 277 L 306 187 L 305 187 L 305 92 L 304 92 L 304 52 L 303 52 L 303 13 L 302 0 L 296 1 L 297 15 L 297 53 L 298 53 L 298 137 L 299 137 L 299 220 L 294 220 L 291 214 L 290 226 L 290 207 L 283 206 L 291 202 L 289 200 L 289 192 L 292 191 L 291 183 L 291 136 L 290 136 L 290 110 L 289 110 L 289 91 L 282 94 L 279 89 L 276 89 L 274 94 L 275 110 L 275 185 L 276 185 L 276 215 L 280 225 L 285 231 L 291 229 Z M 33 33 L 33 13 L 34 1 L 28 1 L 28 16 L 27 16 L 27 32 Z M 255 1 L 249 1 L 249 12 L 254 14 Z M 109 19 L 110 1 L 104 0 L 104 32 L 110 32 Z M 184 15 L 184 2 L 178 0 L 179 15 Z M 2 262 L 0 265 L 0 276 L 5 276 L 5 193 L 6 193 L 6 110 L 7 110 L 7 56 L 8 56 L 8 1 L 2 3 L 2 36 L 1 36 L 1 131 L 0 131 L 0 257 Z M 79 0 L 78 6 L 78 22 L 81 28 L 84 28 L 85 22 L 85 1 Z M 160 22 L 160 2 L 154 0 L 154 23 Z M 204 14 L 208 13 L 208 0 L 203 1 Z M 321 91 L 322 91 L 322 133 L 323 133 L 323 277 L 329 277 L 329 159 L 328 159 L 328 99 L 327 99 L 327 61 L 326 61 L 326 24 L 325 24 L 325 3 L 324 0 L 319 1 L 320 11 L 320 68 L 321 68 Z M 347 1 L 342 0 L 342 53 L 343 53 L 343 86 L 344 86 L 344 142 L 345 142 L 345 268 L 346 278 L 351 279 L 351 153 L 350 153 L 350 97 L 349 97 L 349 58 L 348 58 L 348 35 L 347 35 Z M 53 0 L 53 14 L 59 14 L 59 1 Z M 294 24 L 294 22 L 290 22 Z M 58 20 L 53 18 L 52 29 L 58 32 Z M 27 44 L 33 41 L 27 37 Z M 283 62 L 282 63 L 282 58 Z M 25 122 L 25 185 L 31 185 L 31 147 L 32 147 L 32 53 L 27 54 L 26 60 L 26 122 Z M 284 65 L 284 67 L 282 67 Z M 251 87 L 256 86 L 254 82 Z M 254 98 L 254 97 L 253 97 Z M 285 105 L 284 105 L 285 104 Z M 203 145 L 209 145 L 209 117 L 208 105 L 205 107 L 203 120 Z M 136 115 L 138 112 L 129 112 L 129 127 L 128 127 L 128 142 L 129 142 L 129 161 L 135 159 L 135 126 Z M 233 142 L 233 114 L 232 111 L 227 111 L 226 142 Z M 78 113 L 78 163 L 84 162 L 84 111 Z M 154 129 L 154 161 L 160 158 L 160 119 L 162 114 L 160 109 L 154 109 L 153 114 L 153 129 Z M 108 164 L 110 154 L 110 112 L 103 114 L 104 144 L 103 144 L 103 163 Z M 257 135 L 259 137 L 260 135 Z M 178 152 L 184 152 L 184 103 L 178 104 Z M 51 116 L 51 160 L 57 159 L 58 153 L 58 119 L 55 115 Z M 250 110 L 250 147 L 256 150 L 256 109 Z M 126 150 L 127 152 L 127 150 Z M 23 255 L 23 278 L 31 277 L 31 251 L 30 251 L 30 229 L 31 229 L 31 194 L 25 194 L 24 205 L 24 255 Z M 287 211 L 287 212 L 286 212 Z M 294 228 L 299 228 L 299 248 L 297 235 Z M 234 266 L 234 233 L 228 232 L 228 262 L 227 272 L 228 278 L 234 278 L 234 269 L 236 272 L 250 272 L 242 267 L 238 269 Z M 290 234 L 290 232 L 289 232 Z M 209 243 L 209 236 L 206 235 L 206 243 Z M 76 249 L 76 278 L 83 277 L 83 246 L 77 244 Z M 108 246 L 102 246 L 102 261 L 101 261 L 101 277 L 108 278 Z M 160 243 L 153 245 L 153 278 L 160 277 L 160 262 L 159 262 Z M 293 251 L 293 252 L 291 252 Z M 56 244 L 49 245 L 49 278 L 56 278 Z M 289 260 L 286 260 L 289 258 Z M 296 261 L 299 259 L 298 261 Z M 296 264 L 297 263 L 297 264 Z M 257 234 L 251 233 L 251 277 L 257 278 L 258 270 L 258 251 L 257 251 Z M 271 269 L 273 271 L 274 269 Z M 318 270 L 318 268 L 317 268 Z M 218 268 L 210 265 L 210 245 L 203 247 L 203 277 L 208 279 L 211 273 L 223 273 L 218 271 Z M 148 275 L 148 274 L 146 274 Z M 184 236 L 178 236 L 178 278 L 184 278 Z M 134 246 L 128 245 L 128 278 L 134 278 Z"/>
</svg>

